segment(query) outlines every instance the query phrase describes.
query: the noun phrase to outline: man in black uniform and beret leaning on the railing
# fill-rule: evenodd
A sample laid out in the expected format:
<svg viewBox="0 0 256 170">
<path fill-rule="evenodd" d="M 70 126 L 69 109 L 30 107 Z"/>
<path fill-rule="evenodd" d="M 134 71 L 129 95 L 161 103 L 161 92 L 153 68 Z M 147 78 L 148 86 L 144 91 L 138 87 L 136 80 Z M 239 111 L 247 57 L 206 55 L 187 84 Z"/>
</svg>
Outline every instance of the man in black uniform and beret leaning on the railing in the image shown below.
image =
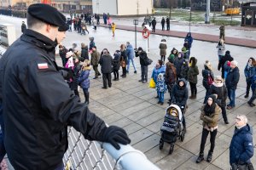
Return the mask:
<svg viewBox="0 0 256 170">
<path fill-rule="evenodd" d="M 63 17 L 47 4 L 32 4 L 28 29 L 0 59 L 4 144 L 15 169 L 63 169 L 67 126 L 116 149 L 131 142 L 124 129 L 107 127 L 79 103 L 61 77 L 54 51 Z"/>
</svg>

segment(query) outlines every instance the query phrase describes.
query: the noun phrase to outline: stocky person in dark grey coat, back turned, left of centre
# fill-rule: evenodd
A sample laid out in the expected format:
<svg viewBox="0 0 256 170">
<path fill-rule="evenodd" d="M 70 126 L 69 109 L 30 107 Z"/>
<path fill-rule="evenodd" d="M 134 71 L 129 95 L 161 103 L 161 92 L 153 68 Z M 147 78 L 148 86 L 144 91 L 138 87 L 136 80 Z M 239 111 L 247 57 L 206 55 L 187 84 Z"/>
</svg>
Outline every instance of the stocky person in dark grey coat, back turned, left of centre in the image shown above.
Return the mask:
<svg viewBox="0 0 256 170">
<path fill-rule="evenodd" d="M 102 80 L 104 89 L 111 88 L 111 72 L 112 72 L 112 57 L 108 54 L 108 49 L 103 49 L 102 57 L 99 61 L 99 64 L 102 65 Z M 107 83 L 108 82 L 108 83 Z M 107 86 L 108 84 L 108 86 Z"/>
</svg>

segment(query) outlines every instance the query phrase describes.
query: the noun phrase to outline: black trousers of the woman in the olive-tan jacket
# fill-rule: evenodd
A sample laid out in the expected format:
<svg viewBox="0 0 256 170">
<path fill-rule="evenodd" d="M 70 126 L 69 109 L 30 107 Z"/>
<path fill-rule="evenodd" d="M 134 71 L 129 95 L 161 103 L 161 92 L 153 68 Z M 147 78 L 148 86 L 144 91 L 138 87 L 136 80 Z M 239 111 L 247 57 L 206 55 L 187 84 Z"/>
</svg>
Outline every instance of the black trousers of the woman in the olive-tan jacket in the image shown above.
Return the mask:
<svg viewBox="0 0 256 170">
<path fill-rule="evenodd" d="M 207 142 L 207 136 L 210 133 L 210 152 L 213 152 L 214 147 L 215 147 L 215 139 L 217 135 L 218 129 L 211 131 L 208 131 L 206 128 L 203 127 L 202 133 L 201 133 L 201 146 L 200 146 L 200 153 L 203 154 L 205 150 L 205 145 Z"/>
</svg>

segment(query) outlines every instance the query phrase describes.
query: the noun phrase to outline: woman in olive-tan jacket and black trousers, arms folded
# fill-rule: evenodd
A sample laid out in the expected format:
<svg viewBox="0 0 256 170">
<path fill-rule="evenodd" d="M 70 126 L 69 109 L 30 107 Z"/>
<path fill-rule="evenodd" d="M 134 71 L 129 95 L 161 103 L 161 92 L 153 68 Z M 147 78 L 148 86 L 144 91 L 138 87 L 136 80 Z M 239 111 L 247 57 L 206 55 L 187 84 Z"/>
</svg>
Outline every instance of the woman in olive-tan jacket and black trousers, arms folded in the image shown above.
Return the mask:
<svg viewBox="0 0 256 170">
<path fill-rule="evenodd" d="M 201 107 L 201 120 L 202 122 L 202 134 L 201 134 L 201 146 L 200 154 L 196 160 L 196 163 L 200 163 L 204 160 L 205 144 L 207 142 L 207 136 L 210 133 L 211 147 L 208 152 L 207 161 L 212 161 L 212 153 L 215 146 L 215 139 L 218 132 L 218 115 L 221 109 L 216 104 L 216 95 L 210 95 L 207 99 L 207 104 Z"/>
</svg>

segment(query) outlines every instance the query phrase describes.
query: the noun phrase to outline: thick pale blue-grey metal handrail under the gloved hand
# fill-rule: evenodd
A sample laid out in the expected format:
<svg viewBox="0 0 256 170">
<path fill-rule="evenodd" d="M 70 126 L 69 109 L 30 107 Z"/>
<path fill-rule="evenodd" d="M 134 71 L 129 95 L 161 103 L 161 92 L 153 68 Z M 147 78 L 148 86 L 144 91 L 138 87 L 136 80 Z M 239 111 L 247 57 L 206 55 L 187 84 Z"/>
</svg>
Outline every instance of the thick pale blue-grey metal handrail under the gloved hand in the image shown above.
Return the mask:
<svg viewBox="0 0 256 170">
<path fill-rule="evenodd" d="M 156 167 L 140 150 L 135 150 L 131 145 L 119 144 L 120 150 L 116 150 L 112 144 L 102 143 L 102 148 L 108 151 L 113 159 L 116 160 L 116 166 L 121 165 L 127 170 L 160 170 Z"/>
</svg>

